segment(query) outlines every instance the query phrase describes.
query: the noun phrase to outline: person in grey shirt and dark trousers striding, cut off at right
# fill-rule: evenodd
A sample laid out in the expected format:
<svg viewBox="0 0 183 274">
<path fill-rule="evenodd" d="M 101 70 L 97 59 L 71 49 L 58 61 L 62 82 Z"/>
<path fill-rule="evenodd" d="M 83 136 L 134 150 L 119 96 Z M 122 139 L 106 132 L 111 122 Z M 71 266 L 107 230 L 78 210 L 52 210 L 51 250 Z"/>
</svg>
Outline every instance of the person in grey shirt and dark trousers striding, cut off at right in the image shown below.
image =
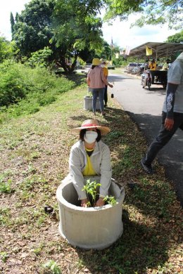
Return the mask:
<svg viewBox="0 0 183 274">
<path fill-rule="evenodd" d="M 151 164 L 159 150 L 170 141 L 175 131 L 183 130 L 183 52 L 168 70 L 168 86 L 162 112 L 162 125 L 158 136 L 149 146 L 141 165 L 147 173 L 152 173 Z"/>
</svg>

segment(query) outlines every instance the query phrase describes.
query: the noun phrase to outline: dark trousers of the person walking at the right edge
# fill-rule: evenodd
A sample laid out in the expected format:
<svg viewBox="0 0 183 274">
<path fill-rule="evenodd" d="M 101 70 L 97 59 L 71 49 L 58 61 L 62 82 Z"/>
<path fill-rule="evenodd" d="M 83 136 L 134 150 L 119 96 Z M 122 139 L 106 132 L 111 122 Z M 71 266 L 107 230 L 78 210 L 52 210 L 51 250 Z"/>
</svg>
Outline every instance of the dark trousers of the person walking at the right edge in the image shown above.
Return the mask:
<svg viewBox="0 0 183 274">
<path fill-rule="evenodd" d="M 170 131 L 165 129 L 166 112 L 162 112 L 162 124 L 158 136 L 153 140 L 146 152 L 146 158 L 144 164 L 151 164 L 153 159 L 158 154 L 159 150 L 163 148 L 175 134 L 177 129 L 183 130 L 183 113 L 174 112 L 174 125 Z"/>
</svg>

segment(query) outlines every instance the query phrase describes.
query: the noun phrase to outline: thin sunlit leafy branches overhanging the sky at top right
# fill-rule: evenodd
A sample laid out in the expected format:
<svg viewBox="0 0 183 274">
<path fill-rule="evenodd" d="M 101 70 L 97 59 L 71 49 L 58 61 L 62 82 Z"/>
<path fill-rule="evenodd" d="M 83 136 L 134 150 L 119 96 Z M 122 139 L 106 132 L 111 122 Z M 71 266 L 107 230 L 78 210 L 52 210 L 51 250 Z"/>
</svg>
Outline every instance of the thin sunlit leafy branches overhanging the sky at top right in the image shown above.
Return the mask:
<svg viewBox="0 0 183 274">
<path fill-rule="evenodd" d="M 168 22 L 170 28 L 182 29 L 182 0 L 106 0 L 106 20 L 120 17 L 126 20 L 131 13 L 141 13 L 132 25 L 158 25 Z"/>
</svg>

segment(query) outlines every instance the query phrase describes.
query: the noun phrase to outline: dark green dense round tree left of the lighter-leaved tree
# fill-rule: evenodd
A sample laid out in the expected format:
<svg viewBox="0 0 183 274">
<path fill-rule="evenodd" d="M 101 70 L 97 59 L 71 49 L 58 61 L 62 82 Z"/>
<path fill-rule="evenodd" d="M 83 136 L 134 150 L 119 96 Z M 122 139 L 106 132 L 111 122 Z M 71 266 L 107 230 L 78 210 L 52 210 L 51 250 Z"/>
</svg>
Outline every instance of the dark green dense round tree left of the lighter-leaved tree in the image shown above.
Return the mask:
<svg viewBox="0 0 183 274">
<path fill-rule="evenodd" d="M 30 57 L 32 52 L 39 51 L 44 46 L 56 49 L 54 44 L 50 44 L 53 37 L 51 15 L 54 5 L 55 0 L 32 0 L 25 5 L 25 10 L 20 15 L 16 14 L 12 36 L 20 56 Z"/>
</svg>

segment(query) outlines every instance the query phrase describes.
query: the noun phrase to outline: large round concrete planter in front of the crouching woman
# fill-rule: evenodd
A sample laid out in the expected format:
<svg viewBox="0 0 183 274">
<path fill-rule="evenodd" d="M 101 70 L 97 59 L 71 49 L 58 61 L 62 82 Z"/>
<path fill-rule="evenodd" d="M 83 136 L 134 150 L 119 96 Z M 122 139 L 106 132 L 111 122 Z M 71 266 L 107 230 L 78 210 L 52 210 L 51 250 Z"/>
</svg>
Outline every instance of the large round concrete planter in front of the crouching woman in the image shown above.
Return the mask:
<svg viewBox="0 0 183 274">
<path fill-rule="evenodd" d="M 59 185 L 56 191 L 59 208 L 59 233 L 75 247 L 104 249 L 122 235 L 122 202 L 125 190 L 113 181 L 109 188 L 117 204 L 103 207 L 80 207 L 72 182 Z"/>
</svg>

